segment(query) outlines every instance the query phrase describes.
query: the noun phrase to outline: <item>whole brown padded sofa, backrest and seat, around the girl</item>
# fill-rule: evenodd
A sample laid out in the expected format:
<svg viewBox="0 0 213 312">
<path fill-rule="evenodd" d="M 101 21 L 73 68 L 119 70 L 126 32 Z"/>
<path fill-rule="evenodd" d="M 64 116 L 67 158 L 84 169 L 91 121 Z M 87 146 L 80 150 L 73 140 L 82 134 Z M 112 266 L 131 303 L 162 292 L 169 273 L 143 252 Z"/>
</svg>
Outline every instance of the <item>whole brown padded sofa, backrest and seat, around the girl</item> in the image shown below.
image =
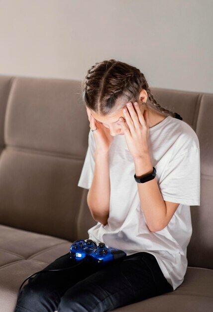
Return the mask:
<svg viewBox="0 0 213 312">
<path fill-rule="evenodd" d="M 174 292 L 117 312 L 213 311 L 213 94 L 151 88 L 179 113 L 201 149 L 201 205 L 192 206 L 193 234 L 185 280 Z M 0 311 L 12 312 L 30 274 L 69 252 L 96 224 L 78 180 L 89 121 L 81 82 L 0 76 Z"/>
</svg>

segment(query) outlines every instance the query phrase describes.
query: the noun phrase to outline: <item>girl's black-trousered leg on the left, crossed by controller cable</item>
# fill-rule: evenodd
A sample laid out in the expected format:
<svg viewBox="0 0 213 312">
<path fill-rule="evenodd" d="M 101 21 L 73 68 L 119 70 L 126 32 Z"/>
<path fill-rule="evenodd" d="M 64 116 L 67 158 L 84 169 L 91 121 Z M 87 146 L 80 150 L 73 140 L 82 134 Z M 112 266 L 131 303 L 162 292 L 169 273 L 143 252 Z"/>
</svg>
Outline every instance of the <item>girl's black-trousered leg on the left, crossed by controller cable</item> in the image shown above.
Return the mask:
<svg viewBox="0 0 213 312">
<path fill-rule="evenodd" d="M 61 297 L 67 289 L 97 270 L 88 267 L 87 263 L 81 263 L 77 267 L 72 268 L 76 264 L 74 260 L 70 259 L 69 253 L 67 253 L 57 258 L 42 271 L 70 269 L 43 272 L 30 278 L 21 290 L 15 312 L 49 312 L 57 310 Z"/>
</svg>

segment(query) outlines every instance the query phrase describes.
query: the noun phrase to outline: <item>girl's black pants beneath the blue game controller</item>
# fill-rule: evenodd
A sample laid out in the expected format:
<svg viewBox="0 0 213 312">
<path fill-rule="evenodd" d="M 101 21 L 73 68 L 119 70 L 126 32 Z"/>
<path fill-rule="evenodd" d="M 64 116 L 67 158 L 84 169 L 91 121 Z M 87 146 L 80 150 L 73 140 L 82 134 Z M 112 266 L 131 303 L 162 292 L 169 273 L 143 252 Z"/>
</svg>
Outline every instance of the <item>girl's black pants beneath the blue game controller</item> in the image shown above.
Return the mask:
<svg viewBox="0 0 213 312">
<path fill-rule="evenodd" d="M 45 269 L 75 264 L 66 254 Z M 15 312 L 106 312 L 171 291 L 155 257 L 140 252 L 101 269 L 83 262 L 38 274 L 23 287 Z"/>
</svg>

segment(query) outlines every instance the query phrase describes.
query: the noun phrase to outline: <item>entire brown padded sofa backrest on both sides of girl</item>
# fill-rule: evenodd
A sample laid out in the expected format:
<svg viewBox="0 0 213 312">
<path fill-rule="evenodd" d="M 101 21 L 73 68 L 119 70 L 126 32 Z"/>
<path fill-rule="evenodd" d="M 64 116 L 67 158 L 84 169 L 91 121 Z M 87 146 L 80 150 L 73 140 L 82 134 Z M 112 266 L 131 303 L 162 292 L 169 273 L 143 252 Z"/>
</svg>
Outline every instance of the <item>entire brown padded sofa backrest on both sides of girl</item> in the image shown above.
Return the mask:
<svg viewBox="0 0 213 312">
<path fill-rule="evenodd" d="M 201 206 L 192 206 L 188 265 L 213 269 L 213 94 L 150 88 L 183 117 L 201 149 Z M 89 121 L 81 82 L 0 76 L 0 223 L 74 241 L 96 224 L 78 180 Z"/>
</svg>

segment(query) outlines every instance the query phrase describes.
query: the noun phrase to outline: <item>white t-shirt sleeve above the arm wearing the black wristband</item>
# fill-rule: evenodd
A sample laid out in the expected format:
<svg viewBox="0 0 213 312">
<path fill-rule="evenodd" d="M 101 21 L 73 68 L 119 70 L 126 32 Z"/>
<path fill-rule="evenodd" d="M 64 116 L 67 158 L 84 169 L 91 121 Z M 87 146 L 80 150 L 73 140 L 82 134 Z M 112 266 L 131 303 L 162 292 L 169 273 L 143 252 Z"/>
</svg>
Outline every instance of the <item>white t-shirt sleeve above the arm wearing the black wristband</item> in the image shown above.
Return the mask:
<svg viewBox="0 0 213 312">
<path fill-rule="evenodd" d="M 159 183 L 166 201 L 200 206 L 200 148 L 193 147 L 172 159 Z"/>
</svg>

